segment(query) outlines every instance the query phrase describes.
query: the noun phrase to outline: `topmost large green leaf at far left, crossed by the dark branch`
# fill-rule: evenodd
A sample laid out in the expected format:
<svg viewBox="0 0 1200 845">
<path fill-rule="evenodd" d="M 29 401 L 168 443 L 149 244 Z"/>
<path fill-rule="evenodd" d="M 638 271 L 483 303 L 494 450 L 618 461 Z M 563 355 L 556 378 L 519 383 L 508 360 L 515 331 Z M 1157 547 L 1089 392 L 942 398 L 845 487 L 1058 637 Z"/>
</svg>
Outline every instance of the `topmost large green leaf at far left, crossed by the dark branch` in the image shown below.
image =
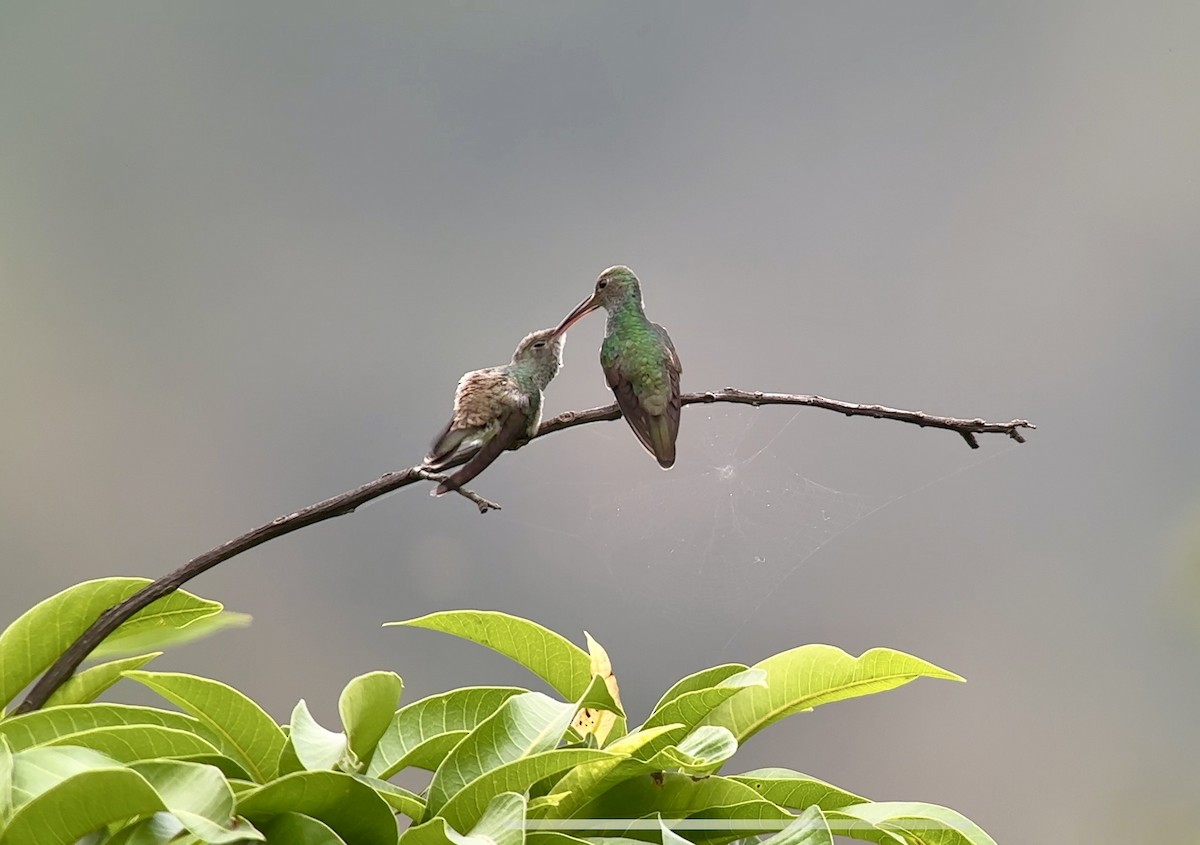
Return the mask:
<svg viewBox="0 0 1200 845">
<path fill-rule="evenodd" d="M 0 706 L 49 669 L 101 613 L 150 583 L 150 579 L 84 581 L 40 601 L 0 634 Z M 221 604 L 176 591 L 138 611 L 104 642 L 130 630 L 186 624 L 221 611 Z M 101 643 L 103 647 L 103 643 Z M 98 654 L 94 652 L 94 654 Z"/>
</svg>

